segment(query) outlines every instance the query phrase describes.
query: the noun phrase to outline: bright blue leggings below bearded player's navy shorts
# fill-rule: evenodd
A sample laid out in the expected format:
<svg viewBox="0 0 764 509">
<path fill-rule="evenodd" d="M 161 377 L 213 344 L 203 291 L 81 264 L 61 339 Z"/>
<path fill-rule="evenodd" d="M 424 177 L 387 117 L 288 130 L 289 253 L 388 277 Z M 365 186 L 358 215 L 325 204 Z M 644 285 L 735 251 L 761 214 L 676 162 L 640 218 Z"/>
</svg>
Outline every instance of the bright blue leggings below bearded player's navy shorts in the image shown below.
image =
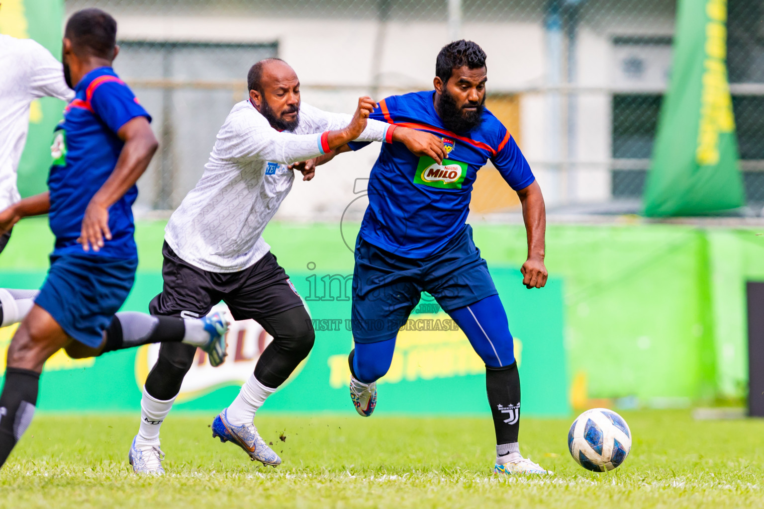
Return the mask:
<svg viewBox="0 0 764 509">
<path fill-rule="evenodd" d="M 514 345 L 507 313 L 498 295 L 448 313 L 467 335 L 472 348 L 486 366 L 501 368 L 515 362 Z M 353 371 L 364 383 L 380 379 L 393 362 L 395 337 L 377 343 L 355 343 Z"/>
</svg>

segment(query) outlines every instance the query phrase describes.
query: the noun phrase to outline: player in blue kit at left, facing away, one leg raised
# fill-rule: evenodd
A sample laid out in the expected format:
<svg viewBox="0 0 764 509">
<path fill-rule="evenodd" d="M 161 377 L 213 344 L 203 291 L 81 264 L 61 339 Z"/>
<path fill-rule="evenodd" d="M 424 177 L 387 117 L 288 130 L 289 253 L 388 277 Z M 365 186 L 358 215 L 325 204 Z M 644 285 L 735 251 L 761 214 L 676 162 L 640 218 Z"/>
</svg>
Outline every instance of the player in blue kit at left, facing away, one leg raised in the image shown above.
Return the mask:
<svg viewBox="0 0 764 509">
<path fill-rule="evenodd" d="M 50 270 L 8 347 L 0 393 L 0 466 L 29 426 L 44 362 L 60 349 L 82 358 L 145 343 L 188 343 L 225 356 L 221 317 L 183 320 L 124 312 L 114 314 L 133 285 L 138 253 L 131 205 L 135 182 L 157 150 L 151 117 L 112 69 L 118 53 L 117 23 L 99 9 L 85 9 L 66 23 L 63 75 L 76 97 L 54 133 L 49 192 L 0 212 L 0 233 L 21 218 L 48 213 L 56 245 Z M 0 76 L 2 79 L 2 76 Z M 0 322 L 25 312 L 0 288 Z M 11 316 L 13 315 L 13 316 Z M 142 457 L 131 462 L 142 462 Z"/>
</svg>

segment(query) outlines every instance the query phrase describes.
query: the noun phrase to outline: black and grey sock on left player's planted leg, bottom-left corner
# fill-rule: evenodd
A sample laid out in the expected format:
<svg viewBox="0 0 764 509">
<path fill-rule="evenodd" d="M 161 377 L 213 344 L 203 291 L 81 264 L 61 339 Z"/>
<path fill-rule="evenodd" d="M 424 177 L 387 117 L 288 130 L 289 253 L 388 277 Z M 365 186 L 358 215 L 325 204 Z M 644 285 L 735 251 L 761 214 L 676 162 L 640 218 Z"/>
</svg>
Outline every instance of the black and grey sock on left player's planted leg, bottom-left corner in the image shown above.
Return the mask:
<svg viewBox="0 0 764 509">
<path fill-rule="evenodd" d="M 40 373 L 5 369 L 5 385 L 0 394 L 0 467 L 32 421 L 39 385 Z"/>
</svg>

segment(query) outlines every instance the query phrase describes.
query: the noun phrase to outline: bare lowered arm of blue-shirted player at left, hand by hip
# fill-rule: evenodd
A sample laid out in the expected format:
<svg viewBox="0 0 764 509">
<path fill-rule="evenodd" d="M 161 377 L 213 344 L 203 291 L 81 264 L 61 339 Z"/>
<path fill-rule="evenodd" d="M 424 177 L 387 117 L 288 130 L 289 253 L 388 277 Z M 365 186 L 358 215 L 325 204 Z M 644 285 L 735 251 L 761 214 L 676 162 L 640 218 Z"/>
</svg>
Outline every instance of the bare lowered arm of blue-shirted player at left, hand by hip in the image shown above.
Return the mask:
<svg viewBox="0 0 764 509">
<path fill-rule="evenodd" d="M 151 131 L 145 117 L 135 117 L 120 127 L 118 137 L 125 141 L 125 146 L 117 159 L 112 175 L 106 179 L 98 192 L 93 195 L 85 210 L 83 228 L 79 243 L 83 250 L 98 251 L 103 247 L 104 237 L 112 240 L 108 229 L 108 208 L 128 192 L 138 178 L 146 171 L 148 163 L 159 147 L 157 138 Z"/>
</svg>

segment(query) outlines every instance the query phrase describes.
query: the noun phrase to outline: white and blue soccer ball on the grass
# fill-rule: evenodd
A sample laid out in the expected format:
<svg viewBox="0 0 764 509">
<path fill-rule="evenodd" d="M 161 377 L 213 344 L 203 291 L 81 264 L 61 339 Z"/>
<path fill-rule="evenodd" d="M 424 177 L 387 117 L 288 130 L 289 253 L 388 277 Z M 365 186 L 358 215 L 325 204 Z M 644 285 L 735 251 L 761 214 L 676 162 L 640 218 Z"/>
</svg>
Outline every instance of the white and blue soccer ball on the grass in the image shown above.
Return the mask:
<svg viewBox="0 0 764 509">
<path fill-rule="evenodd" d="M 576 417 L 568 431 L 573 459 L 594 472 L 612 470 L 631 450 L 631 430 L 623 417 L 607 408 L 592 408 Z"/>
</svg>

